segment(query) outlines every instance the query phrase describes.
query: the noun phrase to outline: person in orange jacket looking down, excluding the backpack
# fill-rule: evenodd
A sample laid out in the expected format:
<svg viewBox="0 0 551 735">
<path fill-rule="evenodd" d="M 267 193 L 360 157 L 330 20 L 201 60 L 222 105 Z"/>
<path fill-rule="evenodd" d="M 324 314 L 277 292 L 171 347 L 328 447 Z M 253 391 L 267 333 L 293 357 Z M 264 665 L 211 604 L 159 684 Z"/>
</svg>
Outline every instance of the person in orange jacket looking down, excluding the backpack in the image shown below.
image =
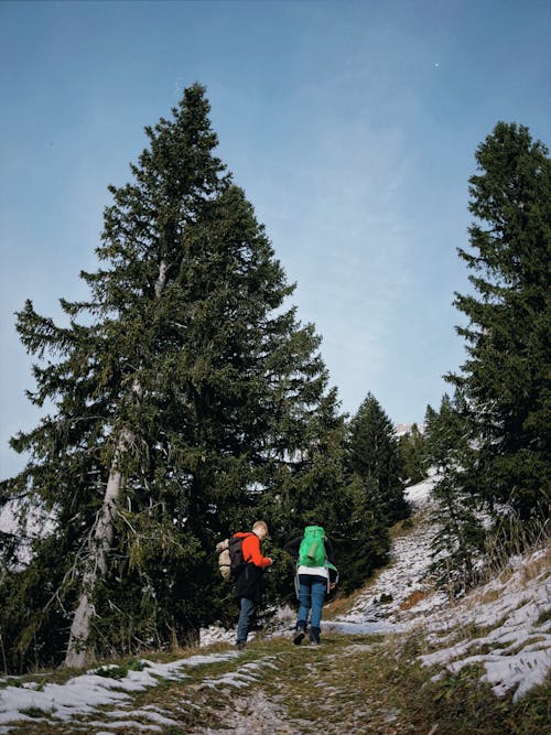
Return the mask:
<svg viewBox="0 0 551 735">
<path fill-rule="evenodd" d="M 247 644 L 249 627 L 255 615 L 256 606 L 260 603 L 263 591 L 263 571 L 273 564 L 270 556 L 262 556 L 260 542 L 268 536 L 268 526 L 263 520 L 257 520 L 252 532 L 236 533 L 242 538 L 242 558 L 245 564 L 236 576 L 236 595 L 239 598 L 239 620 L 237 623 L 236 646 L 242 650 Z"/>
</svg>

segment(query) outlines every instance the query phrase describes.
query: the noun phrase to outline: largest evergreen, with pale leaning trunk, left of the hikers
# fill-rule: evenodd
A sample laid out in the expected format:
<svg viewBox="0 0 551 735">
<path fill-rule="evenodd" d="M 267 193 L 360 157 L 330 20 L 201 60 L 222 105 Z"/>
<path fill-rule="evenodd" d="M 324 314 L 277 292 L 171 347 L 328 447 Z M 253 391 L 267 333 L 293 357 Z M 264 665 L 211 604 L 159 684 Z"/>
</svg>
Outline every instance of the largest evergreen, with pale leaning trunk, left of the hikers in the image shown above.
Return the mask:
<svg viewBox="0 0 551 735">
<path fill-rule="evenodd" d="M 194 635 L 219 614 L 215 540 L 273 509 L 283 477 L 292 507 L 301 456 L 332 473 L 320 339 L 284 307 L 294 287 L 208 111 L 194 85 L 145 128 L 132 183 L 110 187 L 104 267 L 82 274 L 90 300 L 61 302 L 69 325 L 30 301 L 18 315 L 39 359 L 30 398 L 53 410 L 12 440 L 31 458 L 1 489 L 22 523 L 45 512 L 54 530 L 1 583 L 13 668 Z"/>
</svg>

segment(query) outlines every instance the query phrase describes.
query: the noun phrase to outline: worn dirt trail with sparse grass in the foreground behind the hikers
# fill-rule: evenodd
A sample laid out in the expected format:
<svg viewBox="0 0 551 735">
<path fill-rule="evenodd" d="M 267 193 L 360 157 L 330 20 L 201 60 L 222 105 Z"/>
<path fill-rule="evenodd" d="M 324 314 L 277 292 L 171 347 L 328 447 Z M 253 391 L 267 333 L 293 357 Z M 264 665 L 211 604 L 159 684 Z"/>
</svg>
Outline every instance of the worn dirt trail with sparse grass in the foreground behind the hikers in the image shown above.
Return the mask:
<svg viewBox="0 0 551 735">
<path fill-rule="evenodd" d="M 398 702 L 400 696 L 376 673 L 380 644 L 331 639 L 324 647 L 296 649 L 288 642 L 276 663 L 262 671 L 247 692 L 225 689 L 228 677 L 213 679 L 218 701 L 203 704 L 194 735 L 327 735 L 414 732 Z M 388 682 L 387 682 L 388 683 Z"/>
</svg>

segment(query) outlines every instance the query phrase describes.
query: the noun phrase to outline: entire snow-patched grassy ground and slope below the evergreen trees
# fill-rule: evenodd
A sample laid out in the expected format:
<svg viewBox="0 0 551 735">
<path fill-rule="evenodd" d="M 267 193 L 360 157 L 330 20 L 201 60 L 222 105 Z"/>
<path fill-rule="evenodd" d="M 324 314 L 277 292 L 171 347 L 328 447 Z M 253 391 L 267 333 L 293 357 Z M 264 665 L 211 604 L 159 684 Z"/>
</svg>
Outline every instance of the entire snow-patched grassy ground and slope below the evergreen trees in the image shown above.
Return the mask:
<svg viewBox="0 0 551 735">
<path fill-rule="evenodd" d="M 244 652 L 227 644 L 85 674 L 0 681 L 0 733 L 549 732 L 550 549 L 511 559 L 451 606 L 426 581 L 428 480 L 412 522 L 365 590 L 325 614 L 323 646 L 291 621 Z"/>
</svg>

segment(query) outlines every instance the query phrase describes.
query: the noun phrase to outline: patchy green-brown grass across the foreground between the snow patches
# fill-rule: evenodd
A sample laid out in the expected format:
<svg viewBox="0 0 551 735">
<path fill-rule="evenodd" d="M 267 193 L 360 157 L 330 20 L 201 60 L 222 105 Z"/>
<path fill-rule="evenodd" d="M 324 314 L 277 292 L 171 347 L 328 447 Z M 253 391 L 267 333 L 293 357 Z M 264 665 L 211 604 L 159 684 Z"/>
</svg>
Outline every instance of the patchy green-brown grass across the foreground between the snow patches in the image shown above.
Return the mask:
<svg viewBox="0 0 551 735">
<path fill-rule="evenodd" d="M 120 726 L 109 717 L 111 709 L 127 709 L 130 720 L 151 725 L 152 707 L 175 724 L 162 725 L 164 735 L 202 728 L 228 728 L 253 722 L 259 704 L 262 716 L 273 717 L 273 732 L 309 735 L 542 735 L 549 722 L 551 680 L 534 688 L 520 702 L 498 700 L 480 683 L 480 669 L 465 667 L 456 674 L 422 667 L 418 656 L 426 642 L 420 634 L 408 639 L 382 636 L 326 635 L 320 647 L 295 647 L 279 638 L 255 641 L 239 657 L 196 667 L 184 667 L 182 681 L 161 680 L 132 695 L 128 703 L 105 706 L 94 715 L 75 717 L 68 725 L 55 712 L 31 707 L 33 722 L 20 722 L 14 735 L 69 735 L 88 733 L 90 722 L 104 720 L 121 735 L 136 735 L 136 725 Z M 216 651 L 227 646 L 213 647 Z M 195 651 L 196 652 L 196 651 Z M 205 649 L 201 650 L 206 653 Z M 185 651 L 190 656 L 190 651 Z M 173 656 L 168 660 L 175 660 Z M 166 656 L 163 656 L 166 660 Z M 139 668 L 143 662 L 134 661 Z M 132 661 L 109 675 L 121 678 Z M 136 669 L 134 669 L 136 670 Z M 237 671 L 251 677 L 244 687 L 223 683 Z M 32 710 L 32 712 L 31 712 Z M 104 715 L 101 714 L 104 712 Z M 150 717 L 151 715 L 149 715 Z M 279 724 L 278 724 L 279 723 Z M 283 723 L 283 725 L 281 725 Z M 96 727 L 97 728 L 97 727 Z M 434 729 L 435 728 L 435 729 Z M 251 731 L 253 732 L 253 731 Z"/>
</svg>

